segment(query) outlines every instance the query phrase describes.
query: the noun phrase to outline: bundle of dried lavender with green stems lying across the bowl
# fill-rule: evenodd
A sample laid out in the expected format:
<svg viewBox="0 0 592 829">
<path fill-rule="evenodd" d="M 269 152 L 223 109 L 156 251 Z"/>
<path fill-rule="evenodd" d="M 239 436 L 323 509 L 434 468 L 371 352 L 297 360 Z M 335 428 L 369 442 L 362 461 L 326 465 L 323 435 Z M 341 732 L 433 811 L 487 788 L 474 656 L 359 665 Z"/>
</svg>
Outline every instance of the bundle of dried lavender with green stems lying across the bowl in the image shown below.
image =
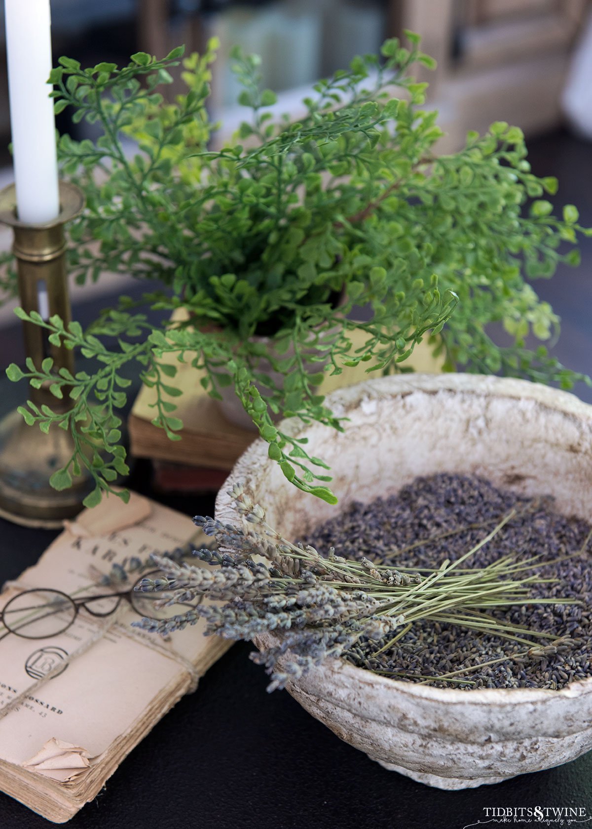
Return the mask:
<svg viewBox="0 0 592 829">
<path fill-rule="evenodd" d="M 425 619 L 522 642 L 533 656 L 541 644 L 532 638 L 556 640 L 488 612 L 513 604 L 561 603 L 557 597 L 532 598 L 532 584 L 554 580 L 537 576 L 536 557 L 517 562 L 504 556 L 479 569 L 460 567 L 491 541 L 515 511 L 454 563 L 445 560 L 437 570 L 419 571 L 393 569 L 366 558 L 346 560 L 333 548 L 324 556 L 311 545 L 292 544 L 267 524 L 265 511 L 251 502 L 242 486 L 233 487 L 229 494 L 241 516 L 240 525 L 211 517 L 194 519 L 218 548 L 196 550 L 195 555 L 215 569 L 153 555 L 161 575 L 142 579 L 137 587 L 142 592 L 172 590 L 163 604 L 196 599 L 198 604 L 171 618 L 143 618 L 135 624 L 168 635 L 205 618 L 206 635 L 255 640 L 262 633 L 277 633 L 277 644 L 251 655 L 271 676 L 267 691 L 286 686 L 328 658 L 348 658 L 353 652 L 357 657 L 360 653 L 375 657 Z M 214 604 L 203 603 L 204 597 Z M 556 647 L 556 642 L 546 647 Z M 453 676 L 448 681 L 467 682 Z"/>
</svg>

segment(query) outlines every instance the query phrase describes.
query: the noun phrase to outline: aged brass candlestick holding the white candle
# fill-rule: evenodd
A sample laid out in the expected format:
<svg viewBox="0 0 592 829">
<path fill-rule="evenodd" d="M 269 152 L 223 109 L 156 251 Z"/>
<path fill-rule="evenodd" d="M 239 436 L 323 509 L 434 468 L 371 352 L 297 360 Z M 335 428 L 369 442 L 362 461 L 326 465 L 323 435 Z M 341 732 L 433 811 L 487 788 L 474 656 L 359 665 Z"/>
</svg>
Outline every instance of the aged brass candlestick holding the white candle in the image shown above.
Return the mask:
<svg viewBox="0 0 592 829">
<path fill-rule="evenodd" d="M 78 187 L 60 182 L 60 215 L 44 225 L 27 225 L 17 219 L 14 185 L 0 191 L 0 222 L 14 231 L 12 250 L 17 257 L 18 291 L 22 308 L 37 311 L 43 318 L 58 314 L 70 322 L 70 294 L 65 267 L 66 221 L 84 208 L 84 195 Z M 23 323 L 26 356 L 41 369 L 41 361 L 53 357 L 54 368 L 74 373 L 74 354 L 63 345 L 56 347 L 47 339 L 44 328 Z M 46 385 L 31 387 L 30 399 L 41 408 L 54 411 L 70 407 L 67 393 L 58 400 Z M 25 526 L 59 527 L 65 518 L 78 514 L 82 500 L 91 489 L 84 474 L 64 492 L 56 492 L 49 478 L 65 466 L 74 452 L 69 432 L 51 426 L 48 434 L 27 426 L 18 412 L 0 422 L 0 516 Z"/>
</svg>

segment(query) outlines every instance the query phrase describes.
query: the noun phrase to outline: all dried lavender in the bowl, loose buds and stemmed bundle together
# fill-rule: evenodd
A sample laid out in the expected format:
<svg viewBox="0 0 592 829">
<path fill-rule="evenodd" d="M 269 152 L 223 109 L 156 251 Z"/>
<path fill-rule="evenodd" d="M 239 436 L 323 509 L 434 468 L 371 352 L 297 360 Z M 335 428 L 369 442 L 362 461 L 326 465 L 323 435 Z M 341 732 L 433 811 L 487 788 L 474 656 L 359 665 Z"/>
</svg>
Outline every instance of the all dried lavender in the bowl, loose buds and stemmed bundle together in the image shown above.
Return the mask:
<svg viewBox="0 0 592 829">
<path fill-rule="evenodd" d="M 315 531 L 315 545 L 295 545 L 243 487 L 230 494 L 237 525 L 195 518 L 218 546 L 196 555 L 215 569 L 153 556 L 162 574 L 139 586 L 172 590 L 166 604 L 204 596 L 214 604 L 145 618 L 142 628 L 166 635 L 205 618 L 206 633 L 225 638 L 275 632 L 277 643 L 253 655 L 272 678 L 270 691 L 329 657 L 464 688 L 541 685 L 541 677 L 559 687 L 590 668 L 574 656 L 587 619 L 581 584 L 576 570 L 570 584 L 561 571 L 588 528 L 556 516 L 548 501 L 440 475 L 354 505 Z M 564 527 L 571 536 L 557 530 Z"/>
</svg>

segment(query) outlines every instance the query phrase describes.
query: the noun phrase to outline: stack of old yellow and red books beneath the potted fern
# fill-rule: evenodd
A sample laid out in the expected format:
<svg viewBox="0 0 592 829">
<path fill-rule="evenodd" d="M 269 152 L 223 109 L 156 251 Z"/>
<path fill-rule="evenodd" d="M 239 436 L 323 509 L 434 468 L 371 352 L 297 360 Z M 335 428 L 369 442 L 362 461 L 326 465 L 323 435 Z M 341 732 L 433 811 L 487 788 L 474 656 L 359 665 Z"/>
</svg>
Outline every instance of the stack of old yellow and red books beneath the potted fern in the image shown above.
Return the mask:
<svg viewBox="0 0 592 829">
<path fill-rule="evenodd" d="M 362 331 L 349 334 L 354 348 L 363 344 L 364 336 Z M 151 458 L 153 461 L 168 461 L 200 468 L 197 476 L 192 477 L 189 473 L 185 475 L 184 486 L 179 487 L 180 491 L 208 488 L 210 479 L 212 486 L 219 485 L 219 475 L 213 473 L 208 476 L 208 470 L 230 472 L 240 455 L 257 438 L 257 431 L 242 429 L 229 423 L 221 413 L 218 402 L 209 397 L 200 385 L 202 372 L 190 366 L 189 361 L 177 362 L 174 355 L 169 356 L 169 359 L 177 369 L 173 384 L 183 394 L 175 398 L 169 398 L 167 395 L 163 397 L 175 403 L 176 417 L 183 421 L 183 429 L 179 433 L 180 440 L 169 440 L 164 429 L 152 424 L 155 416 L 156 390 L 143 385 L 128 418 L 131 453 L 136 458 Z M 405 365 L 412 366 L 414 371 L 437 373 L 440 371 L 441 363 L 442 360 L 432 357 L 429 347 L 421 343 Z M 345 385 L 368 380 L 372 375 L 366 373 L 367 367 L 367 363 L 344 366 L 340 375 L 325 375 L 319 388 L 320 394 L 328 395 Z M 176 487 L 171 485 L 171 475 L 174 475 L 174 469 L 168 468 L 166 474 L 162 474 L 161 468 L 157 467 L 156 485 L 165 481 L 166 483 L 161 485 L 163 490 L 175 490 Z M 191 487 L 191 481 L 195 482 L 195 487 Z"/>
</svg>

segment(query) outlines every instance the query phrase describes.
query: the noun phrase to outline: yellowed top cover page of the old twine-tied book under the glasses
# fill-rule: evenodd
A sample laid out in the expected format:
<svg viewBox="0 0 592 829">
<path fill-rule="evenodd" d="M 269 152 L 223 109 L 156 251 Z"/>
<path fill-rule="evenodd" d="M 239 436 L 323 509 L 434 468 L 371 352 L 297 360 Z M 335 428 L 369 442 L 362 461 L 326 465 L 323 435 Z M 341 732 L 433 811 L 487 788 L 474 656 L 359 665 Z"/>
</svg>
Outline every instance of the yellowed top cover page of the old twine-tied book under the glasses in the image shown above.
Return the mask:
<svg viewBox="0 0 592 829">
<path fill-rule="evenodd" d="M 204 543 L 205 536 L 189 518 L 147 499 L 135 500 L 132 495 L 132 514 L 139 517 L 133 526 L 117 521 L 128 507 L 111 497 L 95 508 L 92 522 L 83 516 L 78 526 L 66 529 L 38 564 L 22 574 L 18 586 L 0 595 L 0 606 L 23 588 L 54 588 L 72 596 L 126 589 L 137 575 L 130 574 L 128 583 L 115 588 L 96 586 L 97 575 L 107 574 L 114 563 L 125 565 L 130 556 L 144 560 L 191 539 L 196 545 Z M 108 528 L 107 534 L 87 534 L 97 527 Z M 199 667 L 208 662 L 208 649 L 219 647 L 200 635 L 203 623 L 166 641 L 137 628 L 131 635 L 130 623 L 139 618 L 125 603 L 114 625 L 81 608 L 75 623 L 58 636 L 33 640 L 11 633 L 2 639 L 0 759 L 67 783 L 89 767 L 89 759 L 99 762 L 146 715 L 163 689 L 188 684 L 184 661 Z M 77 650 L 84 652 L 67 662 Z M 54 675 L 44 680 L 50 671 Z M 25 699 L 2 716 L 2 708 L 23 692 Z"/>
</svg>

